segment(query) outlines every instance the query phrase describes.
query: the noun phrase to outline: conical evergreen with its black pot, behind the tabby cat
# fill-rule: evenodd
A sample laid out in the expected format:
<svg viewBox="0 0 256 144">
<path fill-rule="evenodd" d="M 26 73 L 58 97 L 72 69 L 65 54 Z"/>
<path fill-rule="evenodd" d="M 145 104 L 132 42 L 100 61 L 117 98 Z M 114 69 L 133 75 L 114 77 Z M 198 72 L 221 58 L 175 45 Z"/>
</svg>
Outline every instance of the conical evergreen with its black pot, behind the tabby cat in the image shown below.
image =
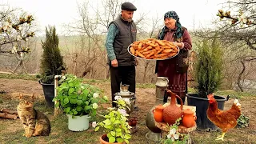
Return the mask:
<svg viewBox="0 0 256 144">
<path fill-rule="evenodd" d="M 41 75 L 39 83 L 48 106 L 54 106 L 54 76 L 65 70 L 63 58 L 58 48 L 58 35 L 54 26 L 46 27 L 46 41 L 42 42 Z"/>
</svg>

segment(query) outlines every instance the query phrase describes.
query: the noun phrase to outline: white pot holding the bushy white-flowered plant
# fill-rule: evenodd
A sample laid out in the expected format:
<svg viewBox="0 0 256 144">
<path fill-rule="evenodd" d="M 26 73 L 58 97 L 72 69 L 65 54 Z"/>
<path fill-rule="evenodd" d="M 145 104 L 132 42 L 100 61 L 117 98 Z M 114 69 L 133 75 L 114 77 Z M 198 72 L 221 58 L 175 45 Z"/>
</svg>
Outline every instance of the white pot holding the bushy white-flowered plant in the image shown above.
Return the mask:
<svg viewBox="0 0 256 144">
<path fill-rule="evenodd" d="M 82 115 L 82 116 L 74 116 L 72 118 L 72 115 L 66 114 L 69 118 L 68 127 L 71 131 L 83 131 L 87 130 L 89 128 L 89 118 L 88 115 Z"/>
</svg>

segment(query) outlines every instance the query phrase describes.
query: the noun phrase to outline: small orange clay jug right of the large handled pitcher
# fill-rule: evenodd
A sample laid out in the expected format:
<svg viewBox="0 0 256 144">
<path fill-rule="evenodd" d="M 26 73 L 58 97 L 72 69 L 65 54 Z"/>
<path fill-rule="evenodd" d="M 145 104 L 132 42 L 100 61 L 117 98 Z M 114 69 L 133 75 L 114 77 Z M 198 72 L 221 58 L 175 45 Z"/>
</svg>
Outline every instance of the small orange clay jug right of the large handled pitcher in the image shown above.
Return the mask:
<svg viewBox="0 0 256 144">
<path fill-rule="evenodd" d="M 194 115 L 194 112 L 190 109 L 186 109 L 183 111 L 182 125 L 187 128 L 193 127 L 195 125 L 195 120 L 197 120 L 197 116 Z"/>
</svg>

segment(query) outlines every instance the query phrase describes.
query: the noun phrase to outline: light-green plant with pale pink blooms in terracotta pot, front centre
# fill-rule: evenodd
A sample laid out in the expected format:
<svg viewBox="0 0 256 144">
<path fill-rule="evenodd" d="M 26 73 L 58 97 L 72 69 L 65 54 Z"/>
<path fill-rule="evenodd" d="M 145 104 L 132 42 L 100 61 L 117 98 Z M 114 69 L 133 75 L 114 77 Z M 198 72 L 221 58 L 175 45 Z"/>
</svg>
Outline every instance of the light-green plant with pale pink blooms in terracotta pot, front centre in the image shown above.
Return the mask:
<svg viewBox="0 0 256 144">
<path fill-rule="evenodd" d="M 104 128 L 106 134 L 100 137 L 100 142 L 102 144 L 109 143 L 129 143 L 130 128 L 127 118 L 129 114 L 126 113 L 124 109 L 126 104 L 123 99 L 120 98 L 116 100 L 119 104 L 119 108 L 108 108 L 108 113 L 104 115 L 104 120 L 102 122 L 94 123 L 94 130 L 98 131 L 99 128 Z"/>
</svg>

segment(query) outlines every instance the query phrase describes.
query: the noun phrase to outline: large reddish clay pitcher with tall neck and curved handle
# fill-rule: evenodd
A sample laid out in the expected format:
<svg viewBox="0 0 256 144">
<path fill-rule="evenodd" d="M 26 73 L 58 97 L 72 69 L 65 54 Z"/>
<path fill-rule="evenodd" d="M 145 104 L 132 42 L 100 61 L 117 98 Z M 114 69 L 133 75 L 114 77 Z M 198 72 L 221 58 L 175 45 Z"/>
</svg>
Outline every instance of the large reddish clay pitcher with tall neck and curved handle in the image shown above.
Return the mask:
<svg viewBox="0 0 256 144">
<path fill-rule="evenodd" d="M 170 105 L 166 106 L 163 110 L 163 120 L 169 125 L 173 125 L 178 118 L 182 118 L 182 108 L 183 102 L 182 98 L 180 98 L 177 94 L 174 94 L 170 90 L 167 90 L 170 94 Z M 181 106 L 176 106 L 176 98 L 178 98 L 181 102 Z"/>
</svg>

